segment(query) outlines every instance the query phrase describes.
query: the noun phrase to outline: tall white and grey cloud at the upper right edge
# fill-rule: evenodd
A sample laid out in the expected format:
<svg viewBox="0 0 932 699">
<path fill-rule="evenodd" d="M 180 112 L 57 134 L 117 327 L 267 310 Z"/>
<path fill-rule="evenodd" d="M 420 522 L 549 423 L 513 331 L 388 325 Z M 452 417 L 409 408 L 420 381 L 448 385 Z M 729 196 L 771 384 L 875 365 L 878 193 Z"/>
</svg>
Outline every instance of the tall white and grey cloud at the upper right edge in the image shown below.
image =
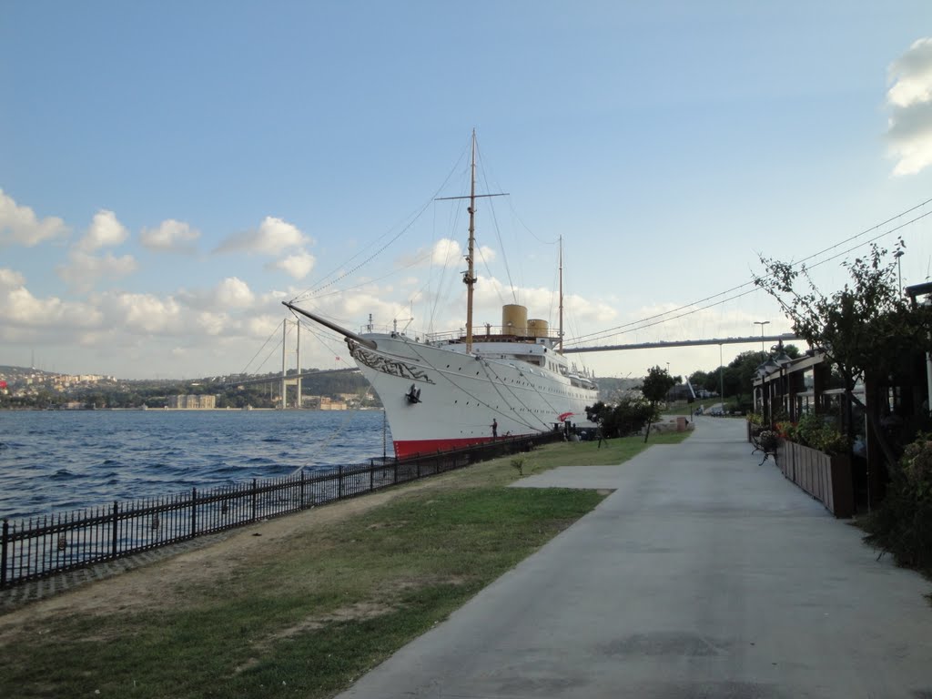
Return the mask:
<svg viewBox="0 0 932 699">
<path fill-rule="evenodd" d="M 932 38 L 913 42 L 888 75 L 887 140 L 898 160 L 893 174 L 916 174 L 932 164 Z"/>
</svg>

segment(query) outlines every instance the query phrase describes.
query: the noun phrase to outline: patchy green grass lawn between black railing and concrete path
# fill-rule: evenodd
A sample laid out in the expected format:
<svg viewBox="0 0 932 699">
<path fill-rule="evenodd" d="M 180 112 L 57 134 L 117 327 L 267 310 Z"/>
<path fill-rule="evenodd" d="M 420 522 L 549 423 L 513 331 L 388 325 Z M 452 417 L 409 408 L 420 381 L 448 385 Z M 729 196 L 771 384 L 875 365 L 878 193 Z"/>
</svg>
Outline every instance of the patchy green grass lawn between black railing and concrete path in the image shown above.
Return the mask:
<svg viewBox="0 0 932 699">
<path fill-rule="evenodd" d="M 549 445 L 523 455 L 522 470 L 617 464 L 685 436 Z M 507 488 L 512 459 L 399 487 L 375 506 L 359 504 L 383 496 L 282 517 L 276 539 L 240 532 L 212 557 L 178 555 L 8 612 L 0 695 L 332 696 L 605 497 Z"/>
</svg>

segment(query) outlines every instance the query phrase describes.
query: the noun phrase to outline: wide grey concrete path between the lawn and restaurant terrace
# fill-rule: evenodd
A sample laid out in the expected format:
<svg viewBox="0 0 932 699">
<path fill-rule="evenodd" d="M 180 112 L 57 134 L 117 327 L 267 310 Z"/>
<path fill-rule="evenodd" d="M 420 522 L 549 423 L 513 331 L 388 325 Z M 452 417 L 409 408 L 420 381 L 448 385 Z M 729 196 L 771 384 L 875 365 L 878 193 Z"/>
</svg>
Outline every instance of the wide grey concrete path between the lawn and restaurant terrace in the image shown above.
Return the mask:
<svg viewBox="0 0 932 699">
<path fill-rule="evenodd" d="M 615 492 L 343 699 L 932 699 L 932 585 L 768 461 L 744 423 L 523 487 Z"/>
</svg>

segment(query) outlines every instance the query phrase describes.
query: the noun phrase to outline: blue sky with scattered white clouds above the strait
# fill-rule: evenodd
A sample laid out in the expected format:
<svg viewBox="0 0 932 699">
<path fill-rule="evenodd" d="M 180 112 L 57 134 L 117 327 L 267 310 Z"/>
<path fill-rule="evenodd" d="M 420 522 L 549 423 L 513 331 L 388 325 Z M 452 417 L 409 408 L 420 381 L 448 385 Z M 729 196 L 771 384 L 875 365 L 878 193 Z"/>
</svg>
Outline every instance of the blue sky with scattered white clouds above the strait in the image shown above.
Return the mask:
<svg viewBox="0 0 932 699">
<path fill-rule="evenodd" d="M 457 330 L 468 223 L 437 198 L 468 193 L 473 130 L 507 194 L 477 206 L 480 327 L 556 327 L 560 239 L 568 346 L 786 333 L 761 255 L 828 294 L 870 240 L 902 238 L 904 286 L 932 270 L 928 0 L 0 0 L 0 364 L 277 371 L 294 299 Z M 319 328 L 300 352 L 350 362 Z"/>
</svg>

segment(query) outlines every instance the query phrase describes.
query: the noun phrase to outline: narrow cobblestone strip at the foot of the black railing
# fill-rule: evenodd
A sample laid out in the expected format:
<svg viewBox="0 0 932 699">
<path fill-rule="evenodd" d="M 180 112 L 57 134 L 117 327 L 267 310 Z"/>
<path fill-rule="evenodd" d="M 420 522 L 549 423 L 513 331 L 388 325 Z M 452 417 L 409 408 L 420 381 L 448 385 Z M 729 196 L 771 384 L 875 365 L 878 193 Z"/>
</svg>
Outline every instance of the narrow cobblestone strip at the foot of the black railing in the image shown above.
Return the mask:
<svg viewBox="0 0 932 699">
<path fill-rule="evenodd" d="M 97 563 L 87 568 L 69 570 L 39 580 L 11 585 L 7 589 L 0 590 L 0 613 L 18 609 L 30 602 L 58 595 L 80 585 L 111 578 L 129 570 L 143 568 L 152 563 L 171 558 L 173 555 L 185 553 L 185 551 L 196 551 L 218 541 L 223 541 L 236 531 L 237 529 L 230 529 L 217 534 L 200 536 L 189 541 L 180 541 L 157 549 L 143 551 L 139 554 Z"/>
</svg>

